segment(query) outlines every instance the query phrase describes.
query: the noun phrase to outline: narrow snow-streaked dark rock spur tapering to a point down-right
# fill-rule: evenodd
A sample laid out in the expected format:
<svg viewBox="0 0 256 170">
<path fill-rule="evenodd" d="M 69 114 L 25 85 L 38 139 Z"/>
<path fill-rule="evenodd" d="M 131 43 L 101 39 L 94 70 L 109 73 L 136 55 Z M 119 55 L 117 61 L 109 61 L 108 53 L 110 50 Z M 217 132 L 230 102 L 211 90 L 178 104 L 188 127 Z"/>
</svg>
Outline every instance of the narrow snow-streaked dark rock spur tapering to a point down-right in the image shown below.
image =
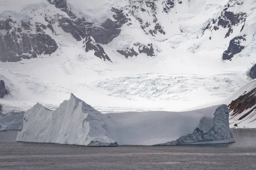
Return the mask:
<svg viewBox="0 0 256 170">
<path fill-rule="evenodd" d="M 94 55 L 96 57 L 99 57 L 100 59 L 104 59 L 104 61 L 106 61 L 106 59 L 110 62 L 111 59 L 108 57 L 108 55 L 105 53 L 104 49 L 102 48 L 102 46 L 100 46 L 94 39 L 93 37 L 91 37 L 90 35 L 88 35 L 85 40 L 83 41 L 84 44 L 84 48 L 85 51 L 91 51 L 94 50 Z"/>
</svg>

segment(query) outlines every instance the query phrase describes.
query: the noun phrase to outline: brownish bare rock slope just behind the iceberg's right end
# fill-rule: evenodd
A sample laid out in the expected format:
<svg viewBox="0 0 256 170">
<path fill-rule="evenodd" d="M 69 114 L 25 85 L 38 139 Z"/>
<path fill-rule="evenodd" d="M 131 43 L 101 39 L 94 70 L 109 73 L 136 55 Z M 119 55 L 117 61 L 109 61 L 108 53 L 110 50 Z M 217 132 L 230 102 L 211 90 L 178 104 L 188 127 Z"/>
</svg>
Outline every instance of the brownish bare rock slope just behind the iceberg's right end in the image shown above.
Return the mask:
<svg viewBox="0 0 256 170">
<path fill-rule="evenodd" d="M 248 93 L 246 92 L 247 91 L 228 105 L 229 111 L 232 112 L 231 116 L 239 116 L 241 113 L 244 113 L 244 111 L 247 112 L 238 120 L 244 119 L 245 117 L 249 116 L 250 113 L 256 110 L 256 88 Z"/>
</svg>

